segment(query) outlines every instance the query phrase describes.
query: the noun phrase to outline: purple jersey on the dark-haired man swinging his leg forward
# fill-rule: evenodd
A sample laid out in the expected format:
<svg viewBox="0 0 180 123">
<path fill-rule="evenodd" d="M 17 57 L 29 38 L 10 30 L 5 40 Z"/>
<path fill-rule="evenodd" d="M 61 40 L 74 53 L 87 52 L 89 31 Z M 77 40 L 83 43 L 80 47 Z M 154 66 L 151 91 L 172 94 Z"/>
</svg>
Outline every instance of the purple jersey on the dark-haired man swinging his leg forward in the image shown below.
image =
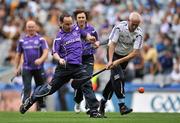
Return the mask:
<svg viewBox="0 0 180 123">
<path fill-rule="evenodd" d="M 82 42 L 86 32 L 74 25 L 70 32 L 60 30 L 53 43 L 53 53 L 63 58 L 69 64 L 82 64 Z"/>
</svg>

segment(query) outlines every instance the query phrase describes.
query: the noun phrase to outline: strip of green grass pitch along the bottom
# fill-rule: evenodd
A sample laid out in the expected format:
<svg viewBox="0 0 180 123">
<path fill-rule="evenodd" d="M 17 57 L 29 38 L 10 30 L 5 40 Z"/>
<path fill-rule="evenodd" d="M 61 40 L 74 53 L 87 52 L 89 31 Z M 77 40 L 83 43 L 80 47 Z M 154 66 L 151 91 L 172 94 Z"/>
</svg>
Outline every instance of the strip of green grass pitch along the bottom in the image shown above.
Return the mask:
<svg viewBox="0 0 180 123">
<path fill-rule="evenodd" d="M 0 112 L 0 123 L 180 123 L 180 113 L 106 113 L 107 118 L 89 118 L 75 112 Z"/>
</svg>

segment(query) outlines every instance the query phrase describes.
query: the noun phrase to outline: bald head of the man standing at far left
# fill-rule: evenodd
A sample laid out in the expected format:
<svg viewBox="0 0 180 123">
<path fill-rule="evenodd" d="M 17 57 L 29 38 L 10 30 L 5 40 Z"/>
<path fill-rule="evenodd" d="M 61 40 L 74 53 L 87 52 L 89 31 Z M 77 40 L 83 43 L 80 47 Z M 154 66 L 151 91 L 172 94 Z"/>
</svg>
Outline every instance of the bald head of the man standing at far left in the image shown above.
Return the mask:
<svg viewBox="0 0 180 123">
<path fill-rule="evenodd" d="M 26 33 L 29 36 L 34 36 L 36 34 L 37 31 L 37 25 L 36 22 L 33 20 L 29 20 L 26 22 Z"/>
</svg>

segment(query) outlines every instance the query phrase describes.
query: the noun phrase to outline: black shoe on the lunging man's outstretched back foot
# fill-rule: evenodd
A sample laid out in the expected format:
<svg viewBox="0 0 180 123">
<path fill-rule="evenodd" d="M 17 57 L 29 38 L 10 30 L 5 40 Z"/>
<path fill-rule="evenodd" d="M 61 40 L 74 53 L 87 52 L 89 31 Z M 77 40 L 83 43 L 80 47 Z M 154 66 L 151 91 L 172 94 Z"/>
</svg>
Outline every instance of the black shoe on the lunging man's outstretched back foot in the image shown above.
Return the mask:
<svg viewBox="0 0 180 123">
<path fill-rule="evenodd" d="M 27 98 L 25 102 L 20 106 L 19 111 L 21 114 L 26 113 L 26 111 L 33 105 L 31 98 Z"/>
</svg>

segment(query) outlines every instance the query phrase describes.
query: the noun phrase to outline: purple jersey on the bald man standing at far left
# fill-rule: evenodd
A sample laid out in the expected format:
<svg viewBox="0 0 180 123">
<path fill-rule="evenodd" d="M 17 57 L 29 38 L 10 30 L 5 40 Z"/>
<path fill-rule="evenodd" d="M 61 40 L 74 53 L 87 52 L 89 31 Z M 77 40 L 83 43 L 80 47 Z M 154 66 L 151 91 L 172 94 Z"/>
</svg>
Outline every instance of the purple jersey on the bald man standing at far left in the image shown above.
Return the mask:
<svg viewBox="0 0 180 123">
<path fill-rule="evenodd" d="M 47 42 L 38 34 L 33 37 L 25 36 L 20 39 L 17 52 L 24 55 L 23 68 L 28 70 L 41 69 L 43 64 L 35 65 L 34 62 L 41 57 L 44 49 L 48 49 Z"/>
</svg>

